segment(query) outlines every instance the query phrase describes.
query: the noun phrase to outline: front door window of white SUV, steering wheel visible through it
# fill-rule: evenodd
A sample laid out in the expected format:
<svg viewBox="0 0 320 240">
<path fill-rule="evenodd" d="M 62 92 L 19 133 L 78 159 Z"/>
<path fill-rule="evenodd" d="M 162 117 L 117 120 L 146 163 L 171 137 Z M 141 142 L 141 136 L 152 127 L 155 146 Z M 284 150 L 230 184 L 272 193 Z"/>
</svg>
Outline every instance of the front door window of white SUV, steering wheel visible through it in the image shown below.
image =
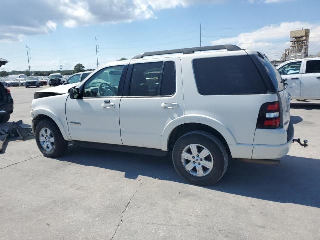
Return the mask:
<svg viewBox="0 0 320 240">
<path fill-rule="evenodd" d="M 118 96 L 123 67 L 124 65 L 106 67 L 95 73 L 85 82 L 83 97 Z"/>
</svg>

